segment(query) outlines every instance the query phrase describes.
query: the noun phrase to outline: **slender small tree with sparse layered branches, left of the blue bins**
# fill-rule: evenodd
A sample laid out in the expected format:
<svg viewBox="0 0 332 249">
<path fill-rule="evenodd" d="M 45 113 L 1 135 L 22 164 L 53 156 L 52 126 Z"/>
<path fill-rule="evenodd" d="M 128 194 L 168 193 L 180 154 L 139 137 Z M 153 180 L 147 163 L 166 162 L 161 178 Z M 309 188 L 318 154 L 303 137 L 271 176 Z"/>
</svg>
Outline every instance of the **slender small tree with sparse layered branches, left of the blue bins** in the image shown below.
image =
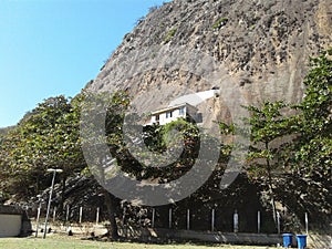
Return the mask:
<svg viewBox="0 0 332 249">
<path fill-rule="evenodd" d="M 283 102 L 264 102 L 261 107 L 252 105 L 246 108 L 251 116 L 248 123 L 251 127 L 250 138 L 252 145 L 248 153 L 247 173 L 251 179 L 258 181 L 263 190 L 267 191 L 267 198 L 271 203 L 273 219 L 277 222 L 274 176 L 273 173 L 280 172 L 282 165 L 278 160 L 280 156 L 281 139 L 289 133 L 287 117 L 281 114 L 286 107 Z"/>
</svg>

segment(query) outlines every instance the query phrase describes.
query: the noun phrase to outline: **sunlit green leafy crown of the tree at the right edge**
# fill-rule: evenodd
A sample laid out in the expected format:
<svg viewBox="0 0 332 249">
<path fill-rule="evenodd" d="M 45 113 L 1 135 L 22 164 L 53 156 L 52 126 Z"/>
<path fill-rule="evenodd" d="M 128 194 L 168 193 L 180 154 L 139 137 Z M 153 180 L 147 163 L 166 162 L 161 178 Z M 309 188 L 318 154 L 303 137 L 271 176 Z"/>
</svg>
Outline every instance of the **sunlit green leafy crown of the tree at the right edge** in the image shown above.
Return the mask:
<svg viewBox="0 0 332 249">
<path fill-rule="evenodd" d="M 297 116 L 295 153 L 298 165 L 304 165 L 307 174 L 320 170 L 331 178 L 332 165 L 332 49 L 310 60 L 311 71 L 304 80 L 303 101 L 295 106 Z"/>
</svg>

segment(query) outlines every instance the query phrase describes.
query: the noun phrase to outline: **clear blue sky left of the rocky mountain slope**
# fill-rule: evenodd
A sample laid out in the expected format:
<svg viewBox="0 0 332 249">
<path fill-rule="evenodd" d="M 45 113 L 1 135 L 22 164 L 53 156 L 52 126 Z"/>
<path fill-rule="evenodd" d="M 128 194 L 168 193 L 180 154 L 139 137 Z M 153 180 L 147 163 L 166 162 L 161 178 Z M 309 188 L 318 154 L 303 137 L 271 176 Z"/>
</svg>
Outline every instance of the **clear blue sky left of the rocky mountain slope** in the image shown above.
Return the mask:
<svg viewBox="0 0 332 249">
<path fill-rule="evenodd" d="M 44 98 L 74 96 L 163 0 L 1 0 L 0 127 Z"/>
</svg>

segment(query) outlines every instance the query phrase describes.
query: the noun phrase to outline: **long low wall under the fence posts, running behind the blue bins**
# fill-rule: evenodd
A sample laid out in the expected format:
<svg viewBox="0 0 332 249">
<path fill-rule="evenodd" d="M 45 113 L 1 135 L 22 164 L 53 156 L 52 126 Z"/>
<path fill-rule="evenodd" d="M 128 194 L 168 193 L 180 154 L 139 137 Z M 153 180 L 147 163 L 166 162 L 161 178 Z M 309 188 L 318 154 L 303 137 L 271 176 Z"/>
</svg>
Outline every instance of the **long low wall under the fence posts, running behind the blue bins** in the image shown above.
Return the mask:
<svg viewBox="0 0 332 249">
<path fill-rule="evenodd" d="M 82 224 L 70 226 L 55 226 L 50 224 L 53 231 L 68 232 L 70 228 L 74 235 L 90 236 L 92 232 L 95 236 L 102 236 L 107 232 L 107 229 L 103 225 L 95 224 Z M 35 224 L 33 224 L 35 228 Z M 267 235 L 267 234 L 242 234 L 242 232 L 210 232 L 210 231 L 193 231 L 193 230 L 172 230 L 164 228 L 133 228 L 121 227 L 118 229 L 121 236 L 127 238 L 137 238 L 143 241 L 158 241 L 165 239 L 172 240 L 191 240 L 191 241 L 205 241 L 216 243 L 235 243 L 235 245 L 274 245 L 282 246 L 281 235 Z M 293 237 L 295 240 L 295 236 Z M 309 235 L 308 247 L 314 249 L 332 248 L 332 237 L 329 235 Z"/>
</svg>

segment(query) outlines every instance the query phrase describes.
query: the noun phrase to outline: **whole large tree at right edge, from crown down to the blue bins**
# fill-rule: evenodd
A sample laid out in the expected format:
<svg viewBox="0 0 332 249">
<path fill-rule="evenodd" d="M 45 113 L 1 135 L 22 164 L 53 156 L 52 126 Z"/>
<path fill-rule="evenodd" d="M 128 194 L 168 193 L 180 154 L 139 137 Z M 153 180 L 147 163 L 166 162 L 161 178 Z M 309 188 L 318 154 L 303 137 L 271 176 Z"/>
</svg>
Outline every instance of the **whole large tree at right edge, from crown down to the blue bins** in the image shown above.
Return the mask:
<svg viewBox="0 0 332 249">
<path fill-rule="evenodd" d="M 287 162 L 292 180 L 286 186 L 297 196 L 294 210 L 317 218 L 331 215 L 332 166 L 332 49 L 310 59 L 304 96 L 290 117 L 294 139 Z M 298 186 L 298 187 L 295 187 Z M 294 189 L 298 189 L 297 191 Z M 289 200 L 294 198 L 289 198 Z M 320 219 L 321 221 L 324 218 Z M 326 220 L 325 220 L 326 221 Z"/>
</svg>

